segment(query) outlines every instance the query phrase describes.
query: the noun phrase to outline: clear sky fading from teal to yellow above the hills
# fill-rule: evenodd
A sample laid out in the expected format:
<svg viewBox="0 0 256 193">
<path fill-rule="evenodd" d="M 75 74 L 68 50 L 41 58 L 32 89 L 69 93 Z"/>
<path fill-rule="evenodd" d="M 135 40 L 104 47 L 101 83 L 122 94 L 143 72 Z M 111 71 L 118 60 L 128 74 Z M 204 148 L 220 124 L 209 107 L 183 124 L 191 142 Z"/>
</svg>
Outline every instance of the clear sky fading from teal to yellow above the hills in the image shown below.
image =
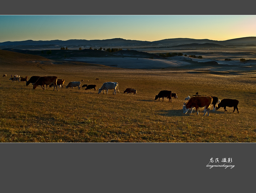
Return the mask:
<svg viewBox="0 0 256 193">
<path fill-rule="evenodd" d="M 256 15 L 0 15 L 0 42 L 230 40 L 256 36 Z"/>
</svg>

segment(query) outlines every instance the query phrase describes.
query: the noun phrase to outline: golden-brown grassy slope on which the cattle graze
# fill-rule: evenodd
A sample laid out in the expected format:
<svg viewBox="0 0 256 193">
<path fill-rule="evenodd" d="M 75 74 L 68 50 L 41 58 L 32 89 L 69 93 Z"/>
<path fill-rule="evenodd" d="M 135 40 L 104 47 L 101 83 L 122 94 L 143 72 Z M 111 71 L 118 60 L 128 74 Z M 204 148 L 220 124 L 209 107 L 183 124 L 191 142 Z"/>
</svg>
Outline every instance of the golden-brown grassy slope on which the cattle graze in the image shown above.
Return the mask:
<svg viewBox="0 0 256 193">
<path fill-rule="evenodd" d="M 255 72 L 136 70 L 40 60 L 1 61 L 1 72 L 7 78 L 0 77 L 0 142 L 256 141 Z M 82 84 L 96 84 L 97 91 L 32 89 L 31 84 L 10 81 L 10 74 L 56 75 L 66 85 L 83 79 Z M 98 94 L 98 88 L 108 81 L 118 82 L 120 93 Z M 124 94 L 127 87 L 137 89 L 137 95 Z M 179 98 L 171 103 L 167 98 L 154 100 L 165 89 Z M 227 107 L 228 112 L 220 108 L 210 111 L 209 117 L 203 117 L 202 110 L 199 115 L 183 114 L 184 98 L 196 92 L 220 100 L 238 99 L 240 112 L 232 113 L 233 108 Z"/>
</svg>

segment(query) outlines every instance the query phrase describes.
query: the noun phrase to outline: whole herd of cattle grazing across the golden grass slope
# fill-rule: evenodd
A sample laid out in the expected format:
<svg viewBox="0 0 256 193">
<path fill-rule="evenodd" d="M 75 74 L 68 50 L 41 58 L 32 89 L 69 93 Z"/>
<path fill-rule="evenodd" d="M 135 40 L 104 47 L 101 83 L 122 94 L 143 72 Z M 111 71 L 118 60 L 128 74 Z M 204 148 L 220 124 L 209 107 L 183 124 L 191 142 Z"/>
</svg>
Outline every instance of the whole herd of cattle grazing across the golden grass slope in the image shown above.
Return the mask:
<svg viewBox="0 0 256 193">
<path fill-rule="evenodd" d="M 6 74 L 3 75 L 3 77 L 6 77 Z M 58 86 L 60 88 L 65 87 L 65 80 L 64 79 L 58 79 L 57 76 L 31 76 L 31 78 L 29 80 L 27 80 L 28 77 L 26 76 L 25 78 L 23 77 L 19 77 L 18 75 L 15 75 L 13 78 L 10 78 L 9 80 L 12 80 L 12 82 L 14 81 L 19 81 L 19 82 L 26 82 L 26 86 L 28 86 L 30 83 L 32 83 L 33 85 L 33 89 L 35 89 L 37 86 L 41 86 L 44 90 L 45 90 L 45 85 L 46 87 L 49 85 L 49 87 L 54 86 L 54 90 L 56 88 L 56 90 L 58 91 Z M 99 80 L 98 78 L 96 80 Z M 80 90 L 81 88 L 85 87 L 85 90 L 88 89 L 94 89 L 94 91 L 97 90 L 96 85 L 87 85 L 84 84 L 83 86 L 81 86 L 81 82 L 80 81 L 72 81 L 69 82 L 68 85 L 66 86 L 66 88 L 73 88 L 73 87 L 78 87 L 78 89 Z M 114 90 L 113 95 L 116 95 L 116 90 L 118 90 L 118 83 L 117 82 L 105 82 L 103 83 L 103 85 L 101 86 L 101 88 L 99 88 L 98 94 L 100 94 L 103 91 L 106 91 L 106 94 L 108 94 L 108 90 Z M 120 92 L 119 92 L 120 93 Z M 134 95 L 137 94 L 137 90 L 134 88 L 126 88 L 124 93 L 127 94 L 131 94 L 133 93 Z M 160 98 L 163 98 L 164 101 L 164 97 L 167 97 L 167 99 L 169 99 L 169 102 L 172 102 L 172 97 L 175 99 L 178 99 L 178 96 L 176 93 L 172 93 L 172 91 L 160 91 L 158 93 L 158 95 L 155 96 L 155 100 L 158 99 L 158 101 L 160 101 Z M 218 100 L 218 97 L 215 96 L 205 96 L 205 95 L 198 95 L 198 93 L 196 93 L 196 95 L 193 95 L 192 97 L 186 97 L 184 100 L 187 100 L 187 102 L 184 102 L 183 105 L 183 113 L 187 113 L 188 110 L 190 109 L 192 113 L 193 109 L 195 108 L 197 111 L 197 115 L 199 114 L 199 108 L 204 108 L 204 115 L 206 113 L 207 116 L 209 116 L 210 113 L 210 107 L 211 105 L 214 106 L 213 111 L 218 110 L 219 108 L 223 107 L 224 111 L 226 110 L 226 107 L 233 107 L 234 110 L 237 110 L 237 113 L 239 113 L 238 110 L 238 100 L 236 99 L 222 99 L 221 101 Z"/>
</svg>

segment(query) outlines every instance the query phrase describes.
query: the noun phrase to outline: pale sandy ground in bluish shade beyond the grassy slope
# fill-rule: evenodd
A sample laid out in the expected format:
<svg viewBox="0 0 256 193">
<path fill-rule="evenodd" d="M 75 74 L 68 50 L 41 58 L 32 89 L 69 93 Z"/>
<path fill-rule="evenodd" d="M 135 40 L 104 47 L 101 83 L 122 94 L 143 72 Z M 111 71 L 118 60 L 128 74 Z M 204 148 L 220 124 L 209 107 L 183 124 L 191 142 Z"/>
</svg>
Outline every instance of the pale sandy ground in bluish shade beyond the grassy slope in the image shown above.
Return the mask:
<svg viewBox="0 0 256 193">
<path fill-rule="evenodd" d="M 75 60 L 82 61 L 92 64 L 100 64 L 105 66 L 117 67 L 117 68 L 132 68 L 132 69 L 163 69 L 163 68 L 191 68 L 191 69 L 204 69 L 204 70 L 241 70 L 241 67 L 247 68 L 256 65 L 256 61 L 251 62 L 240 62 L 240 60 L 231 61 L 221 61 L 221 60 L 211 60 L 211 59 L 197 59 L 189 58 L 185 56 L 175 56 L 167 59 L 147 59 L 147 58 L 113 58 L 113 57 L 71 57 L 65 60 Z M 191 61 L 209 62 L 216 61 L 219 65 L 209 67 L 209 65 L 204 65 L 202 67 L 195 66 L 191 64 Z M 202 63 L 203 64 L 203 63 Z M 194 66 L 194 67 L 193 67 Z M 249 68 L 248 67 L 248 68 Z M 255 69 L 251 69 L 255 70 Z"/>
</svg>

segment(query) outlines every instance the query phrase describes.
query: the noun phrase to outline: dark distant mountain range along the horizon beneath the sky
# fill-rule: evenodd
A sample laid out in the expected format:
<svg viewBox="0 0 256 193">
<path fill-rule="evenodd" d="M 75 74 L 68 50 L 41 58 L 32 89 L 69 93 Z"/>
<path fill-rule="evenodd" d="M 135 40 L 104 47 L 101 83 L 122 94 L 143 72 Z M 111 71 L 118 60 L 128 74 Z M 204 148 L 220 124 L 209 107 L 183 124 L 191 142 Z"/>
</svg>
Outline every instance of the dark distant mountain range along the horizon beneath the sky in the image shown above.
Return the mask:
<svg viewBox="0 0 256 193">
<path fill-rule="evenodd" d="M 125 40 L 122 38 L 113 38 L 107 40 L 50 40 L 50 41 L 16 41 L 16 42 L 2 42 L 1 49 L 16 47 L 18 49 L 40 49 L 52 48 L 59 49 L 60 47 L 223 47 L 223 46 L 251 46 L 256 47 L 256 37 L 241 37 L 225 41 L 208 40 L 208 39 L 191 39 L 191 38 L 171 38 L 159 41 L 139 41 L 139 40 Z"/>
</svg>

